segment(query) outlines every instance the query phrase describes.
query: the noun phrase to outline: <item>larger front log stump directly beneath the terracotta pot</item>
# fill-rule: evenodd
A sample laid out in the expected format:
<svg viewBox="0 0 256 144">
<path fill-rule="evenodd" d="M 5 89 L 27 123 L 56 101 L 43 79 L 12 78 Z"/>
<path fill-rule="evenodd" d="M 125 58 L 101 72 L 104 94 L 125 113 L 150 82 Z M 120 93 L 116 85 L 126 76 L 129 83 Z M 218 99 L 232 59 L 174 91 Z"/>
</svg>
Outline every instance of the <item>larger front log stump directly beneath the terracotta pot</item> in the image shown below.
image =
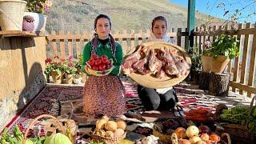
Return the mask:
<svg viewBox="0 0 256 144">
<path fill-rule="evenodd" d="M 211 73 L 209 82 L 209 94 L 226 97 L 229 94 L 231 74 Z"/>
</svg>

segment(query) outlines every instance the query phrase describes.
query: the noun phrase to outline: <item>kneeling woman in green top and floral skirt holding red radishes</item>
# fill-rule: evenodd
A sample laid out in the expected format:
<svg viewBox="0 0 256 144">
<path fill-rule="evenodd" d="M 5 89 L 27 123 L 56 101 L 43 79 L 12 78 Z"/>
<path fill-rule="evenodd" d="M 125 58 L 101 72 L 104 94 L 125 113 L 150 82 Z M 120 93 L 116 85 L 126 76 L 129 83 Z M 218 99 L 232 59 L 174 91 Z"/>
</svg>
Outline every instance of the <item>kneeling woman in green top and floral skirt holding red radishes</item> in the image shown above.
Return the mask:
<svg viewBox="0 0 256 144">
<path fill-rule="evenodd" d="M 94 38 L 86 44 L 83 50 L 82 71 L 89 78 L 84 86 L 83 111 L 87 116 L 110 117 L 122 115 L 126 112 L 126 100 L 124 87 L 118 78 L 119 68 L 122 64 L 122 46 L 114 42 L 110 35 L 111 22 L 105 14 L 99 14 L 94 20 Z M 114 60 L 114 70 L 106 76 L 94 76 L 87 71 L 86 62 L 92 54 L 106 55 Z"/>
</svg>

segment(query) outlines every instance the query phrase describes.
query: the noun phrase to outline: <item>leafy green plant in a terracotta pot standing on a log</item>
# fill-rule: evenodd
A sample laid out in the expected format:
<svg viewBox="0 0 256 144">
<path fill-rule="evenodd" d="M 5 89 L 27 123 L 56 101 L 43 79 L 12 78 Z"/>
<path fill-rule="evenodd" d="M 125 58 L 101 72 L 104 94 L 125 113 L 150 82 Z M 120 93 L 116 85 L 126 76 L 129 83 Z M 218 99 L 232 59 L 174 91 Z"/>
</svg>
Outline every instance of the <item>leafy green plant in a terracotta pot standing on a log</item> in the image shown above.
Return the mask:
<svg viewBox="0 0 256 144">
<path fill-rule="evenodd" d="M 211 43 L 209 49 L 204 51 L 203 55 L 208 57 L 207 60 L 202 58 L 203 69 L 210 65 L 211 72 L 222 73 L 230 59 L 240 55 L 238 40 L 227 34 L 221 34 L 216 41 Z"/>
</svg>

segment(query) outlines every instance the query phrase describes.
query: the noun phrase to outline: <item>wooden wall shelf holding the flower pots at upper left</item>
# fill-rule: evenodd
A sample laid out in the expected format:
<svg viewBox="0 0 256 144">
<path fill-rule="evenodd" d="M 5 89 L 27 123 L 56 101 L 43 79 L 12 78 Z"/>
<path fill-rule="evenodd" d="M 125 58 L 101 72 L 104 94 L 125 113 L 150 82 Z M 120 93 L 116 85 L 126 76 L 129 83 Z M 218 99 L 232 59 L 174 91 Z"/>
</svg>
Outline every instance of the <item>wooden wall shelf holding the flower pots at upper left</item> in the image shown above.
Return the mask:
<svg viewBox="0 0 256 144">
<path fill-rule="evenodd" d="M 0 31 L 0 37 L 5 38 L 5 37 L 42 37 L 45 36 L 45 34 L 37 34 L 34 32 L 28 32 L 28 31 L 19 31 L 19 30 L 3 30 Z"/>
</svg>

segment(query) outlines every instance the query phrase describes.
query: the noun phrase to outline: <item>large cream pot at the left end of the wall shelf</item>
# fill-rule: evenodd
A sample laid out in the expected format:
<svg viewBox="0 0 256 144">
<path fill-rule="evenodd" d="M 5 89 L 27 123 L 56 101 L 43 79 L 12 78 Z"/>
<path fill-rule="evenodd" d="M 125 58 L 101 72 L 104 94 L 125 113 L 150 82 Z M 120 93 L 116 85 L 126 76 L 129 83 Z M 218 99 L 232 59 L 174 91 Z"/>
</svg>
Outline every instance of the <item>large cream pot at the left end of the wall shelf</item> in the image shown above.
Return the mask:
<svg viewBox="0 0 256 144">
<path fill-rule="evenodd" d="M 0 0 L 0 26 L 2 30 L 22 30 L 26 1 Z"/>
</svg>

